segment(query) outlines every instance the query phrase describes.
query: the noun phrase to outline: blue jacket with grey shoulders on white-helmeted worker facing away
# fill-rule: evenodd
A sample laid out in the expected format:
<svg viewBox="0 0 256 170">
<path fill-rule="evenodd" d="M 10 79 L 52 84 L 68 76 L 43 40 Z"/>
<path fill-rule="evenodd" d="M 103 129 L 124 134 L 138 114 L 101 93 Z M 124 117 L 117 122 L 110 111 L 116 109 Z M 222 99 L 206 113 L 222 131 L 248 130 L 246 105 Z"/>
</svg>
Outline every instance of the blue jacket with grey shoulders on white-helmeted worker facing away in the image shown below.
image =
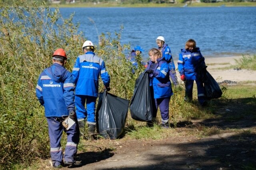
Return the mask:
<svg viewBox="0 0 256 170">
<path fill-rule="evenodd" d="M 76 85 L 76 95 L 98 96 L 99 76 L 105 87 L 109 87 L 110 76 L 106 71 L 104 61 L 94 52 L 86 52 L 78 56 L 72 71 Z"/>
</svg>

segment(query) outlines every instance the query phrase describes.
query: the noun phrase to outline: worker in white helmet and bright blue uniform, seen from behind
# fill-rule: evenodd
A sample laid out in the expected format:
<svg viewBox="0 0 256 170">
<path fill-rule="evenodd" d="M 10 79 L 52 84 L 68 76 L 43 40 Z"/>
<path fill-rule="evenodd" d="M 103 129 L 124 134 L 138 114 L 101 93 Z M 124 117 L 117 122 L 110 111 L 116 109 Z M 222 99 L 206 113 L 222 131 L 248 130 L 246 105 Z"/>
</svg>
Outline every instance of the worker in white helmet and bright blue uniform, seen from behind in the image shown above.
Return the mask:
<svg viewBox="0 0 256 170">
<path fill-rule="evenodd" d="M 95 55 L 91 41 L 85 41 L 82 50 L 85 54 L 78 56 L 72 71 L 76 85 L 76 115 L 80 130 L 84 129 L 87 118 L 89 134 L 93 135 L 96 130 L 95 104 L 98 97 L 99 76 L 107 91 L 110 90 L 110 76 L 106 71 L 104 61 Z M 84 134 L 81 132 L 81 135 Z"/>
</svg>

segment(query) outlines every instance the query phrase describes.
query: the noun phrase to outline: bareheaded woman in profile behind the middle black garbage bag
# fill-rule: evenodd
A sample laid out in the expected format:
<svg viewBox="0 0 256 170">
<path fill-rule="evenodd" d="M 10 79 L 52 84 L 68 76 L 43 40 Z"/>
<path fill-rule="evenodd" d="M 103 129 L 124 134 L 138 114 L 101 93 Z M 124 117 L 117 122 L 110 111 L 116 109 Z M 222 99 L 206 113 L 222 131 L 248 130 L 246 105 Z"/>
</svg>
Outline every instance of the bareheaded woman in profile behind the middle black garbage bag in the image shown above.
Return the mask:
<svg viewBox="0 0 256 170">
<path fill-rule="evenodd" d="M 173 94 L 170 78 L 168 75 L 169 66 L 162 57 L 162 52 L 156 48 L 149 50 L 148 67 L 146 72 L 150 76 L 150 93 L 152 94 L 153 115 L 152 121 L 147 122 L 148 126 L 152 126 L 156 122 L 156 113 L 159 106 L 163 128 L 169 127 L 169 102 Z"/>
</svg>

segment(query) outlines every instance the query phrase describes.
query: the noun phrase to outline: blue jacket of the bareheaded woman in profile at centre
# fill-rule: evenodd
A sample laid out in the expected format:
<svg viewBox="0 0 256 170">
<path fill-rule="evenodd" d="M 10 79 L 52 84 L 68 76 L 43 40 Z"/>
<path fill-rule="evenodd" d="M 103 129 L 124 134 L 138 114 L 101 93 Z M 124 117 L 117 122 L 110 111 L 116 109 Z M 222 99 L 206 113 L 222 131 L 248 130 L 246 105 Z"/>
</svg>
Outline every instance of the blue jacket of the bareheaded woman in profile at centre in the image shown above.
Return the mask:
<svg viewBox="0 0 256 170">
<path fill-rule="evenodd" d="M 172 96 L 172 86 L 169 78 L 169 66 L 164 58 L 158 58 L 157 63 L 148 61 L 146 70 L 154 70 L 150 74 L 150 86 L 153 86 L 154 98 L 167 98 Z"/>
</svg>

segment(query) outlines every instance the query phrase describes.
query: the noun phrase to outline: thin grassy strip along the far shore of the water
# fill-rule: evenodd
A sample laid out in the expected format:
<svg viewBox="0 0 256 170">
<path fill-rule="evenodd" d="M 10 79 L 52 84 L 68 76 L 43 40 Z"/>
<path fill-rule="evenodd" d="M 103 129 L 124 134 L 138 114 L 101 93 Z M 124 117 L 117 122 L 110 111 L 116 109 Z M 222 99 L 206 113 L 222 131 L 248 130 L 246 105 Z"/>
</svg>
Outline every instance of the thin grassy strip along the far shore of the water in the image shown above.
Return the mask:
<svg viewBox="0 0 256 170">
<path fill-rule="evenodd" d="M 60 7 L 60 8 L 83 8 L 83 7 L 183 7 L 185 3 L 176 3 L 176 4 L 154 4 L 154 3 L 145 3 L 145 4 L 121 4 L 121 3 L 80 3 L 76 2 L 73 4 L 51 4 L 50 7 Z M 232 6 L 256 6 L 256 2 L 217 2 L 217 3 L 187 3 L 186 7 L 232 7 Z"/>
</svg>

